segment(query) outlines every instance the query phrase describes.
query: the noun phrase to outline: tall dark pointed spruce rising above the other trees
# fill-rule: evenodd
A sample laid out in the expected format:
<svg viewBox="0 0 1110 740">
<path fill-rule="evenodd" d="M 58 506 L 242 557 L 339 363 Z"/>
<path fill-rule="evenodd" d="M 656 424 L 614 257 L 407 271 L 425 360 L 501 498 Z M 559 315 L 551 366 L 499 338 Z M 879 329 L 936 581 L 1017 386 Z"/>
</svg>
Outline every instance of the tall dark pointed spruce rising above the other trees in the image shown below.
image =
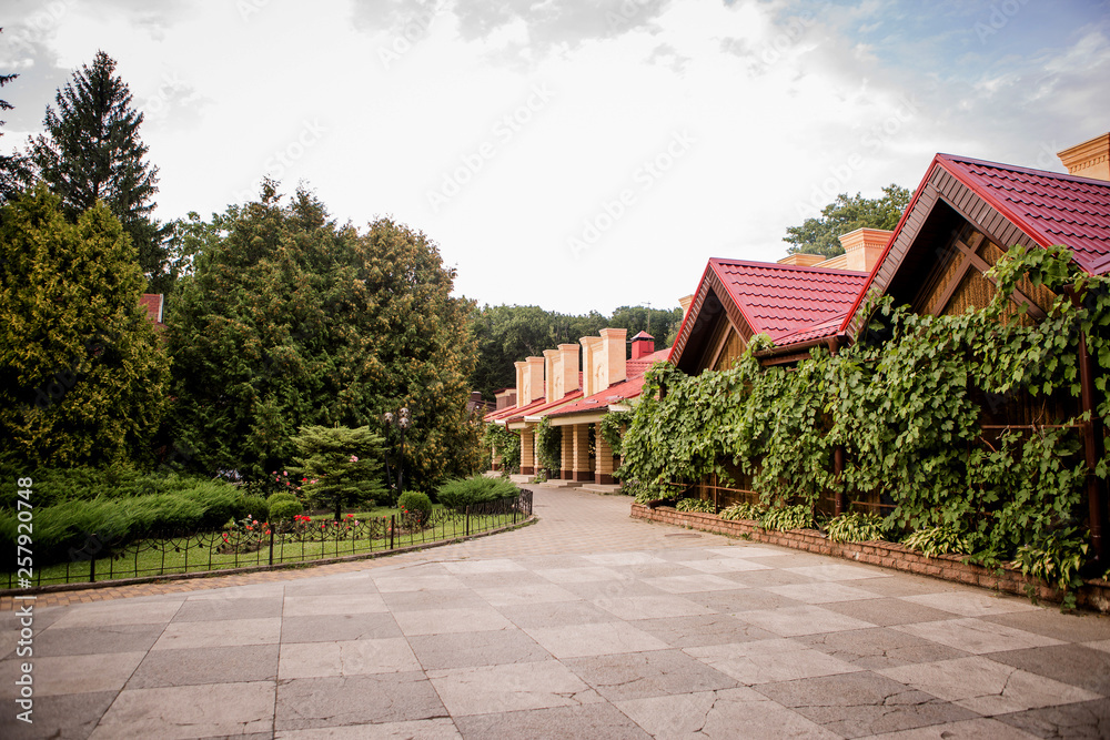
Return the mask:
<svg viewBox="0 0 1110 740">
<path fill-rule="evenodd" d="M 47 133 L 31 145 L 38 175 L 61 196 L 71 217 L 102 200 L 134 243 L 149 287 L 164 292 L 168 233 L 152 219 L 158 168 L 144 161 L 148 146 L 139 138 L 143 114 L 131 107 L 131 91 L 115 74 L 115 60 L 98 51 L 92 67 L 74 72 L 54 102 L 58 110 L 48 105 L 42 120 Z"/>
</svg>

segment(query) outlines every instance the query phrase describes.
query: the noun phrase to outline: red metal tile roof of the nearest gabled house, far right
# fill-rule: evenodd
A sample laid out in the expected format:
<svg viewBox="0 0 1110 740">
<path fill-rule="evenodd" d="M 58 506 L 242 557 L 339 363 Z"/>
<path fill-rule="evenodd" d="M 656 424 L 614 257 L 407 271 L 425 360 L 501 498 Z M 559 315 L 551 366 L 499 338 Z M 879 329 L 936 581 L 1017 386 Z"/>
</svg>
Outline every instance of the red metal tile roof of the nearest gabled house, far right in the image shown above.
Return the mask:
<svg viewBox="0 0 1110 740">
<path fill-rule="evenodd" d="M 1110 270 L 1110 182 L 951 154 L 934 162 L 1041 246 L 1063 244 L 1088 273 Z"/>
</svg>

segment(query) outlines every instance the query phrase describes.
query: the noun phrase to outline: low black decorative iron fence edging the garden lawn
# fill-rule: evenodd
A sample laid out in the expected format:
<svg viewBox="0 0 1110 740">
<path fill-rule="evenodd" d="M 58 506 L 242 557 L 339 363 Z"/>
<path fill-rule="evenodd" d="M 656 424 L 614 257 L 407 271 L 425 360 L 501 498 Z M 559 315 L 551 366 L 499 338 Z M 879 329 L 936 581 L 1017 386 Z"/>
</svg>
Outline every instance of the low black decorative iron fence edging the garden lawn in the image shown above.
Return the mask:
<svg viewBox="0 0 1110 740">
<path fill-rule="evenodd" d="M 329 560 L 387 551 L 513 526 L 532 516 L 532 491 L 513 498 L 473 504 L 465 509 L 435 508 L 426 520 L 413 515 L 340 521 L 307 517 L 278 526 L 236 526 L 221 531 L 161 533 L 141 540 L 115 543 L 92 534 L 69 558 L 37 568 L 30 582 L 9 572 L 7 587 L 97 582 L 121 578 L 219 571 Z"/>
</svg>

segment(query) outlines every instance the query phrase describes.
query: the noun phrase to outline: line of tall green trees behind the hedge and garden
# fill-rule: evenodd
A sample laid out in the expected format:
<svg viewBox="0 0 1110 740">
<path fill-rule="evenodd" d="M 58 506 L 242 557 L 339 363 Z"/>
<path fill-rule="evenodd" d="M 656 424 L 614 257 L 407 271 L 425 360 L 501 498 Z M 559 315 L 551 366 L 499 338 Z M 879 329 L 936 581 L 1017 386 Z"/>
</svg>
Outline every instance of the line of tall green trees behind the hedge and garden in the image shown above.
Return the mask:
<svg viewBox="0 0 1110 740">
<path fill-rule="evenodd" d="M 98 52 L 58 90 L 43 133 L 0 158 L 4 469 L 259 478 L 303 427 L 369 426 L 396 445 L 383 418 L 404 406 L 395 463 L 427 488 L 475 468 L 468 394 L 512 386 L 514 362 L 606 326 L 646 330 L 658 348 L 677 334 L 678 307 L 478 307 L 452 296 L 455 271 L 426 234 L 337 223 L 305 187 L 266 180 L 253 202 L 161 223 L 143 114 L 115 67 Z M 162 332 L 144 292 L 167 296 Z"/>
</svg>

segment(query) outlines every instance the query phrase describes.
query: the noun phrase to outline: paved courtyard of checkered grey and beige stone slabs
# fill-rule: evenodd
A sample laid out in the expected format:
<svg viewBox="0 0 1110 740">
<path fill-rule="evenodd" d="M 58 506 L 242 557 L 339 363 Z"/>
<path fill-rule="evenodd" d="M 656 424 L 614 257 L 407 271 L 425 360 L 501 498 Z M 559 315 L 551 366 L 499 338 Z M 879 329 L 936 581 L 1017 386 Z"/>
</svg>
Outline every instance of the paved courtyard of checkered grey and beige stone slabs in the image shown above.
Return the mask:
<svg viewBox="0 0 1110 740">
<path fill-rule="evenodd" d="M 0 738 L 1110 737 L 1110 619 L 535 500 L 422 553 L 43 597 L 33 658 L 0 611 Z"/>
</svg>

